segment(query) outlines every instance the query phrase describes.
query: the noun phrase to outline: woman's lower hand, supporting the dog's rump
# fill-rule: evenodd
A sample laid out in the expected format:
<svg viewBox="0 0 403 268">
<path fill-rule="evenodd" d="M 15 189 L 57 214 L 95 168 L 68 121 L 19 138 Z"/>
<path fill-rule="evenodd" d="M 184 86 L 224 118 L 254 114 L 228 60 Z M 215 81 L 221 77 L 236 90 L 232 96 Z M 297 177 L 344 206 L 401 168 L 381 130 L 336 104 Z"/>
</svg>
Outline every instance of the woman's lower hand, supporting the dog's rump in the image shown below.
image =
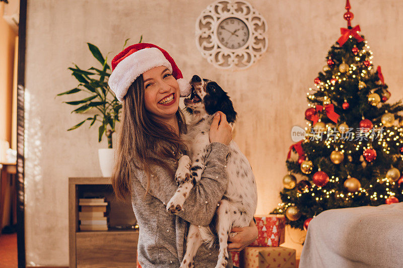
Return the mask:
<svg viewBox="0 0 403 268">
<path fill-rule="evenodd" d="M 249 226 L 243 228 L 234 227 L 231 232 L 236 232 L 237 234 L 234 237 L 228 238 L 228 241 L 231 242 L 228 243 L 228 251 L 241 251 L 253 243 L 258 235 L 257 227 L 253 220 Z"/>
</svg>

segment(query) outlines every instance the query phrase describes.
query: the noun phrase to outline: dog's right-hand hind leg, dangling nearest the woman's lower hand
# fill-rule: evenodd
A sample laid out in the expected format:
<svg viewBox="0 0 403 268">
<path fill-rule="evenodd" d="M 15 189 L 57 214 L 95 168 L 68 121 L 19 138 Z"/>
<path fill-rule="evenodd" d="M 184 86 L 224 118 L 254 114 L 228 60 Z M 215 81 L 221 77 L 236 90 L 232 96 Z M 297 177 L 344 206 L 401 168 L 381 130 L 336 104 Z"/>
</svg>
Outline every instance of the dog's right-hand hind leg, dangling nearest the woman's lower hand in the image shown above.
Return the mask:
<svg viewBox="0 0 403 268">
<path fill-rule="evenodd" d="M 221 200 L 220 207 L 217 209 L 217 234 L 220 250 L 216 268 L 223 268 L 228 263 L 228 236 L 232 227 L 232 217 L 230 217 L 229 213 L 233 213 L 234 210 L 231 207 L 231 204 L 227 200 Z"/>
</svg>

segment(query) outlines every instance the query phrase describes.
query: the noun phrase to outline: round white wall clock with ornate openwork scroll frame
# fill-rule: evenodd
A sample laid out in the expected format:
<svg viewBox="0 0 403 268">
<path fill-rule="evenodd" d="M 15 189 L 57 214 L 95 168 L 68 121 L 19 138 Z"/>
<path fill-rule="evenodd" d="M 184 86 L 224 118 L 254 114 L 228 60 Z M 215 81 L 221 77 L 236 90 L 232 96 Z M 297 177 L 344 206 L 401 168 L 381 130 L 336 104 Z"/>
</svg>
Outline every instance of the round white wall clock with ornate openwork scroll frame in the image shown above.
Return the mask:
<svg viewBox="0 0 403 268">
<path fill-rule="evenodd" d="M 246 1 L 219 0 L 197 18 L 196 46 L 218 68 L 245 69 L 267 50 L 267 23 Z"/>
</svg>

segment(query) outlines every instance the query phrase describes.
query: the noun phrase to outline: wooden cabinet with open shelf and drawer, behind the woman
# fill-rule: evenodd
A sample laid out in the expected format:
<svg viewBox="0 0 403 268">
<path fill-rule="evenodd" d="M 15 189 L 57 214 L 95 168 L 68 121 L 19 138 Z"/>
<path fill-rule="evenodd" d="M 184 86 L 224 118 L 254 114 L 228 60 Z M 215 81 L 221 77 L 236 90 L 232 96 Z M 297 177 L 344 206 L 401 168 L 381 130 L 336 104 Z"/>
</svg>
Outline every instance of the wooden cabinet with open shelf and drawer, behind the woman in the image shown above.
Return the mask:
<svg viewBox="0 0 403 268">
<path fill-rule="evenodd" d="M 115 200 L 108 177 L 69 177 L 70 267 L 136 267 L 137 230 L 79 230 L 79 199 L 89 194 L 106 197 L 110 225 L 136 222 L 129 200 Z"/>
</svg>

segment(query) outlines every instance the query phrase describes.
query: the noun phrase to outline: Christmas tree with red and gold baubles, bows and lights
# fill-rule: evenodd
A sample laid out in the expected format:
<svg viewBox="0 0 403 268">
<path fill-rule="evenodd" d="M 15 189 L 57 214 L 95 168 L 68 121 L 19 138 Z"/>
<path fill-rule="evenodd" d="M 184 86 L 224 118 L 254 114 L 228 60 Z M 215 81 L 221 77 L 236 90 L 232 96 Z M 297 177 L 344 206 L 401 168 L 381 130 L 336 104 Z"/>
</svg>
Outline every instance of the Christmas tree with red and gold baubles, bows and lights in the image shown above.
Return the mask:
<svg viewBox="0 0 403 268">
<path fill-rule="evenodd" d="M 403 201 L 403 105 L 387 103 L 381 68 L 360 26 L 351 26 L 349 0 L 346 9 L 348 27 L 309 88 L 306 134 L 290 147 L 282 203 L 272 212 L 294 228 L 328 209 Z"/>
</svg>

